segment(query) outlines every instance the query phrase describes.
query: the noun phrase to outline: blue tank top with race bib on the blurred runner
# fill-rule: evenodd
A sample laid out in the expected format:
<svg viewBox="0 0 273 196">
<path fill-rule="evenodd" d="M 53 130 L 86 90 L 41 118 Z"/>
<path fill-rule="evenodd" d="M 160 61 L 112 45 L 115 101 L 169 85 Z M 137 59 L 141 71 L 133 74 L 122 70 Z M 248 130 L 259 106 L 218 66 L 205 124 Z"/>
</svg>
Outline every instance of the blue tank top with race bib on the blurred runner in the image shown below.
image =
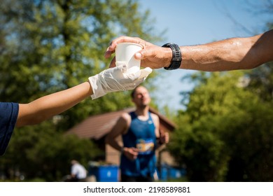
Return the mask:
<svg viewBox="0 0 273 196">
<path fill-rule="evenodd" d="M 148 120 L 139 120 L 134 112 L 129 113 L 132 122 L 126 134 L 123 134 L 123 146 L 139 149 L 136 160 L 129 160 L 121 155 L 121 174 L 127 176 L 151 176 L 155 172 L 155 125 L 148 113 Z"/>
</svg>

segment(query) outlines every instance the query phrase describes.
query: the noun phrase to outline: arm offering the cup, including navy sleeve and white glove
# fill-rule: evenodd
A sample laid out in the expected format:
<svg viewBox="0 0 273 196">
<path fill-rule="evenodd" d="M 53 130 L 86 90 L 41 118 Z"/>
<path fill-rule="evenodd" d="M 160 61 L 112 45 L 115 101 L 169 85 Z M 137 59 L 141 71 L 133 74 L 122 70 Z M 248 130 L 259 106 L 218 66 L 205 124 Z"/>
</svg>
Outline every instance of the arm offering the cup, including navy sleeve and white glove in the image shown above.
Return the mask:
<svg viewBox="0 0 273 196">
<path fill-rule="evenodd" d="M 109 92 L 132 90 L 142 83 L 151 69 L 127 73 L 120 65 L 91 76 L 88 81 L 66 90 L 48 94 L 28 104 L 0 102 L 0 155 L 6 148 L 15 127 L 35 125 L 75 106 L 83 99 L 97 99 Z"/>
</svg>

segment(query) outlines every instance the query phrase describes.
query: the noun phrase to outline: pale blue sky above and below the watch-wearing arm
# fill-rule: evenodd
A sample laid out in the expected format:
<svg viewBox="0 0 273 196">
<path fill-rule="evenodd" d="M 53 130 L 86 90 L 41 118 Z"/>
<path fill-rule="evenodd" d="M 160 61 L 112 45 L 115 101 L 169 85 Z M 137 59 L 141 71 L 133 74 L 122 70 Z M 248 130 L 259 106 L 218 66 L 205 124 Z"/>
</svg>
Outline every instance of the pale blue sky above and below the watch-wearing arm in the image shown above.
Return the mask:
<svg viewBox="0 0 273 196">
<path fill-rule="evenodd" d="M 251 36 L 264 30 L 265 23 L 272 15 L 257 13 L 255 8 L 262 5 L 260 0 L 139 0 L 141 9 L 149 9 L 155 19 L 155 29 L 167 29 L 165 41 L 155 43 L 177 43 L 178 45 L 197 45 L 235 36 Z M 233 20 L 244 25 L 247 31 L 236 25 Z M 158 97 L 160 107 L 167 105 L 172 111 L 183 109 L 179 92 L 190 90 L 193 84 L 182 83 L 181 78 L 195 71 L 160 71 L 158 90 L 151 94 Z"/>
</svg>

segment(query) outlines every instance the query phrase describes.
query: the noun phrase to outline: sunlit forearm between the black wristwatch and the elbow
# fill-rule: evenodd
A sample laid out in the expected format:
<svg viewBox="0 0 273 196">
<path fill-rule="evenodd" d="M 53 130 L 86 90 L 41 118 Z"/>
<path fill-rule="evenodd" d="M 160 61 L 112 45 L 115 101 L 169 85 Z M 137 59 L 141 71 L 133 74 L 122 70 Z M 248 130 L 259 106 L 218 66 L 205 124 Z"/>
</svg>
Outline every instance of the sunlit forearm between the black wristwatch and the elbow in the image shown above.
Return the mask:
<svg viewBox="0 0 273 196">
<path fill-rule="evenodd" d="M 230 38 L 224 41 L 181 47 L 181 69 L 200 71 L 228 71 L 255 66 L 250 55 L 255 41 L 249 38 Z"/>
</svg>

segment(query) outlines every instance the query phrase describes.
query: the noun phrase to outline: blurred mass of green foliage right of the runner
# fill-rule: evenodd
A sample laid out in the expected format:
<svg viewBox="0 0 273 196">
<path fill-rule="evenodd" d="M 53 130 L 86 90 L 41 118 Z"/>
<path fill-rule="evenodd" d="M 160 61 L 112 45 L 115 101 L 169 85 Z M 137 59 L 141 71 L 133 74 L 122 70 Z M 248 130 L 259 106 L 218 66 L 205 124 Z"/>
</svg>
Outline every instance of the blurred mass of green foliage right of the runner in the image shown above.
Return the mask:
<svg viewBox="0 0 273 196">
<path fill-rule="evenodd" d="M 179 113 L 180 128 L 169 146 L 177 162 L 186 165 L 188 179 L 269 181 L 272 104 L 246 89 L 241 71 L 199 72 L 192 78 L 197 85 L 188 94 L 186 111 Z M 267 156 L 262 158 L 261 151 Z"/>
</svg>

